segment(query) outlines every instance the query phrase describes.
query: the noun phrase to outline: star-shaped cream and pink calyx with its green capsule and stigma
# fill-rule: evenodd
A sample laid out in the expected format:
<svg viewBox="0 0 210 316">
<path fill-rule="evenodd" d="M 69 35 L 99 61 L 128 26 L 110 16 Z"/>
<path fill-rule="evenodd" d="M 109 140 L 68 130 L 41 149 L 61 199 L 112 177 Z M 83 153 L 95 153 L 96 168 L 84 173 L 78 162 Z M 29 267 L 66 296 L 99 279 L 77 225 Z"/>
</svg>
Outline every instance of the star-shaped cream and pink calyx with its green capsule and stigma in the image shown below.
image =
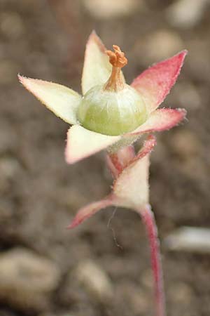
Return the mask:
<svg viewBox="0 0 210 316">
<path fill-rule="evenodd" d="M 65 150 L 69 164 L 106 148 L 114 152 L 144 133 L 171 129 L 186 116 L 183 109 L 157 110 L 179 75 L 186 51 L 148 68 L 129 86 L 121 70 L 127 59 L 118 46 L 113 50 L 106 51 L 97 34 L 90 34 L 83 96 L 60 84 L 19 75 L 28 91 L 72 125 Z"/>
</svg>

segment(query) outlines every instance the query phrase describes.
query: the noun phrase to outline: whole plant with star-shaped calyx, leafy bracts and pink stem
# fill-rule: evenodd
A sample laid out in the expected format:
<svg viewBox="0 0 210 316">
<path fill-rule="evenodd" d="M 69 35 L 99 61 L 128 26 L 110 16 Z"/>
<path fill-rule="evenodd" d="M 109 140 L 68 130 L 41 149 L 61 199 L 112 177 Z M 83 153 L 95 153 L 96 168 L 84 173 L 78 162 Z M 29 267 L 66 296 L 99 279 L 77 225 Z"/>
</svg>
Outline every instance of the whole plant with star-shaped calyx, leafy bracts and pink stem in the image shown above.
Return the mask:
<svg viewBox="0 0 210 316">
<path fill-rule="evenodd" d="M 158 109 L 174 85 L 185 56 L 186 51 L 182 51 L 153 65 L 129 86 L 121 70 L 127 64 L 125 54 L 116 45 L 113 51 L 106 51 L 92 32 L 85 51 L 83 96 L 60 84 L 18 75 L 41 103 L 73 125 L 67 133 L 66 162 L 72 164 L 107 149 L 113 190 L 108 197 L 80 209 L 69 228 L 110 205 L 141 214 L 151 243 L 158 316 L 165 315 L 165 303 L 157 229 L 148 198 L 149 154 L 155 138 L 148 136 L 137 154 L 132 144 L 144 133 L 171 129 L 186 116 L 183 109 Z"/>
</svg>

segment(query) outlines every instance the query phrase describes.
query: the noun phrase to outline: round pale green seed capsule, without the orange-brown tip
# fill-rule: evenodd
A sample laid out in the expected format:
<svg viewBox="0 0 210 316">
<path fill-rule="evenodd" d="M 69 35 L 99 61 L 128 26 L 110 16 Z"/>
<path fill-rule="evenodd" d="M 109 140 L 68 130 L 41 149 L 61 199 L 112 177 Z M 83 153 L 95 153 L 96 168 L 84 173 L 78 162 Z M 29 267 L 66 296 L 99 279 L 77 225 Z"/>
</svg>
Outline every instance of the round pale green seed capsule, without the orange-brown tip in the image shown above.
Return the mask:
<svg viewBox="0 0 210 316">
<path fill-rule="evenodd" d="M 94 86 L 83 97 L 77 115 L 85 129 L 110 136 L 134 131 L 148 117 L 144 100 L 127 84 L 118 92 Z"/>
</svg>

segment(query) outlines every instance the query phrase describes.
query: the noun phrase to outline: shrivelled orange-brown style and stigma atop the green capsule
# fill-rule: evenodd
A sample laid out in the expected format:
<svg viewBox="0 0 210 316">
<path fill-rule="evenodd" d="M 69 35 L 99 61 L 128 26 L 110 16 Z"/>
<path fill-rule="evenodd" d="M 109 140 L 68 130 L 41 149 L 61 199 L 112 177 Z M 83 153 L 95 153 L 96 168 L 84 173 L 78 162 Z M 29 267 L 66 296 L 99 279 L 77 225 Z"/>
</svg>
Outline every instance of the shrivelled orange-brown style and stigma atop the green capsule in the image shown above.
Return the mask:
<svg viewBox="0 0 210 316">
<path fill-rule="evenodd" d="M 109 62 L 113 67 L 111 76 L 104 85 L 104 90 L 118 92 L 125 87 L 125 79 L 120 70 L 127 65 L 127 58 L 117 45 L 113 45 L 113 51 L 106 51 L 106 54 L 109 56 Z"/>
</svg>

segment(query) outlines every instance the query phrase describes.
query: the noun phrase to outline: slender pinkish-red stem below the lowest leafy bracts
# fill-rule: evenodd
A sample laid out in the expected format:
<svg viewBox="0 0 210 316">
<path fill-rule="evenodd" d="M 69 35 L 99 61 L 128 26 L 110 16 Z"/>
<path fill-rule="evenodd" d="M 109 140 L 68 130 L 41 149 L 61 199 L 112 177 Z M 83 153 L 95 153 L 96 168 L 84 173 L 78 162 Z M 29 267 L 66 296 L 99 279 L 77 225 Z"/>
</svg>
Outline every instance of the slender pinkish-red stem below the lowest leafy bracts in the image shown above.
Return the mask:
<svg viewBox="0 0 210 316">
<path fill-rule="evenodd" d="M 160 258 L 160 243 L 158 239 L 158 228 L 155 223 L 153 211 L 148 206 L 141 211 L 141 217 L 146 226 L 148 239 L 151 247 L 151 265 L 153 269 L 153 277 L 155 282 L 155 300 L 157 308 L 157 316 L 166 316 L 165 309 L 165 293 L 162 277 L 162 263 Z"/>
</svg>

